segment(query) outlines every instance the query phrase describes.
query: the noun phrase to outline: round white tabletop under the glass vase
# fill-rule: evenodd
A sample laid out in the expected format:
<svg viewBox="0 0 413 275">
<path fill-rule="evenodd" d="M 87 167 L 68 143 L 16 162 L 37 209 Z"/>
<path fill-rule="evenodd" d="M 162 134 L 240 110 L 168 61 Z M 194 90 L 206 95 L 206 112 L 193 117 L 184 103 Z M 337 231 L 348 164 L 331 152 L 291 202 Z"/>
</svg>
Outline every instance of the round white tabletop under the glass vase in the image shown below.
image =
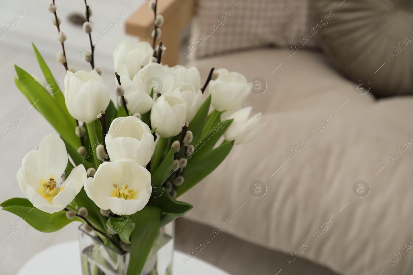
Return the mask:
<svg viewBox="0 0 413 275">
<path fill-rule="evenodd" d="M 200 259 L 192 259 L 185 265 L 186 255 L 173 254 L 173 275 L 229 275 L 223 270 Z M 44 249 L 31 257 L 17 275 L 82 275 L 78 241 L 63 242 Z"/>
</svg>

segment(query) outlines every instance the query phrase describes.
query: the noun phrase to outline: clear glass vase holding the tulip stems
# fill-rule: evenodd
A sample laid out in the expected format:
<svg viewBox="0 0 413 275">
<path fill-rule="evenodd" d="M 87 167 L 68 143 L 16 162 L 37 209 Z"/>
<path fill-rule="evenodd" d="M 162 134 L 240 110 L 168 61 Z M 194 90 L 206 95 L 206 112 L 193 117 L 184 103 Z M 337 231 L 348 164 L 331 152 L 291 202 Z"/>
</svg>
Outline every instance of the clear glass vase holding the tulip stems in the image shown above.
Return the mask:
<svg viewBox="0 0 413 275">
<path fill-rule="evenodd" d="M 175 221 L 159 229 L 158 236 L 140 275 L 171 275 Z M 126 275 L 130 253 L 112 249 L 95 233 L 79 226 L 79 247 L 83 275 Z"/>
</svg>

